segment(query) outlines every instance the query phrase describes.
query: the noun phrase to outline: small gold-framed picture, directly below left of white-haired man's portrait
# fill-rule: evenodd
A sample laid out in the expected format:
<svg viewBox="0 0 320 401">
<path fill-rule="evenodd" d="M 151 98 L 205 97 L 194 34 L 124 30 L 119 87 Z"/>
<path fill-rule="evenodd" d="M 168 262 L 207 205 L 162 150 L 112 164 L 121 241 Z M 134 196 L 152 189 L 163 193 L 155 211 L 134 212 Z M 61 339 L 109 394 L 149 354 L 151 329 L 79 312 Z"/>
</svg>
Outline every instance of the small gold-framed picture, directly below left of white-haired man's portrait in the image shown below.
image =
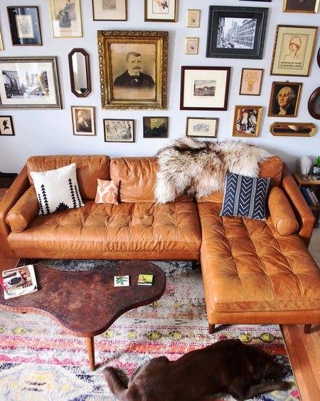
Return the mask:
<svg viewBox="0 0 320 401">
<path fill-rule="evenodd" d="M 235 106 L 233 137 L 258 137 L 262 106 Z"/>
</svg>

